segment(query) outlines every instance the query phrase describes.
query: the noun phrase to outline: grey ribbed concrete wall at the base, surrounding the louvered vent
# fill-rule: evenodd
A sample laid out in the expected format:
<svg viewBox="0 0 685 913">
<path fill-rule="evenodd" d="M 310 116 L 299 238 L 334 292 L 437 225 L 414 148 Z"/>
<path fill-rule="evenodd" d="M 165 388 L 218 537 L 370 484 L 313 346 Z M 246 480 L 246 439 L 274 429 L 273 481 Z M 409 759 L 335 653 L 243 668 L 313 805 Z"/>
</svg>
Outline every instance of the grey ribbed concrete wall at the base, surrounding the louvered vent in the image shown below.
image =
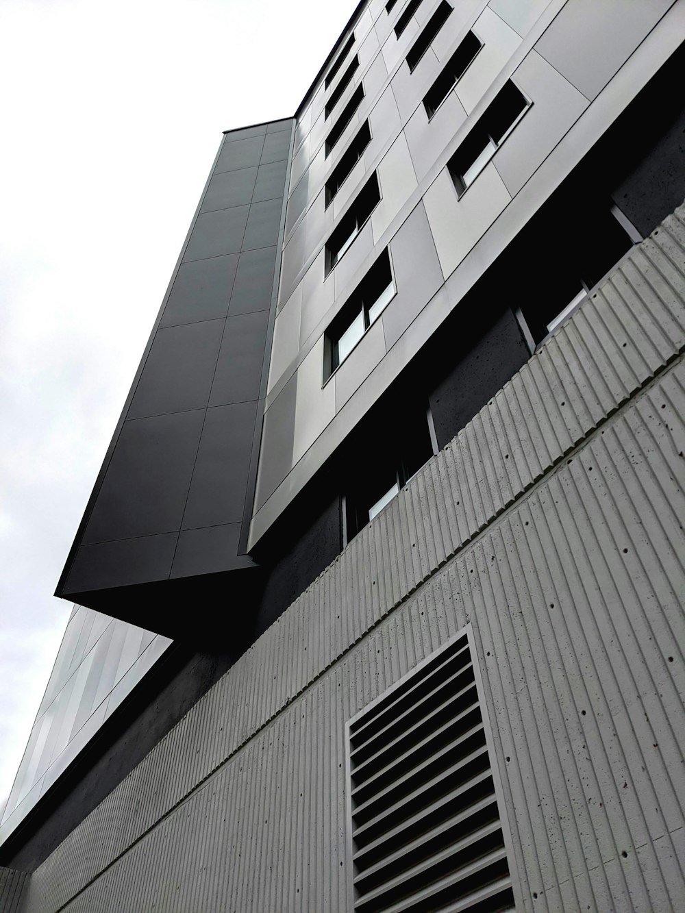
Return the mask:
<svg viewBox="0 0 685 913">
<path fill-rule="evenodd" d="M 679 908 L 684 219 L 47 859 L 27 910 L 348 908 L 344 722 L 466 624 L 517 907 Z"/>
</svg>

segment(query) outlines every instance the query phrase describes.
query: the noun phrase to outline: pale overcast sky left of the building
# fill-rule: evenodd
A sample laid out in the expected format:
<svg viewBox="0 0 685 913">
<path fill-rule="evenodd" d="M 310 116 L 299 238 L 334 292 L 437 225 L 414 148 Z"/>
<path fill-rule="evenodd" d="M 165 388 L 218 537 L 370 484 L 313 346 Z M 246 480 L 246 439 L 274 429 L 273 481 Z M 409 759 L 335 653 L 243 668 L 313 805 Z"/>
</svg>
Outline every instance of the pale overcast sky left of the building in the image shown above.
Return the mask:
<svg viewBox="0 0 685 913">
<path fill-rule="evenodd" d="M 355 0 L 0 2 L 0 812 L 52 593 L 221 131 L 294 113 Z"/>
</svg>

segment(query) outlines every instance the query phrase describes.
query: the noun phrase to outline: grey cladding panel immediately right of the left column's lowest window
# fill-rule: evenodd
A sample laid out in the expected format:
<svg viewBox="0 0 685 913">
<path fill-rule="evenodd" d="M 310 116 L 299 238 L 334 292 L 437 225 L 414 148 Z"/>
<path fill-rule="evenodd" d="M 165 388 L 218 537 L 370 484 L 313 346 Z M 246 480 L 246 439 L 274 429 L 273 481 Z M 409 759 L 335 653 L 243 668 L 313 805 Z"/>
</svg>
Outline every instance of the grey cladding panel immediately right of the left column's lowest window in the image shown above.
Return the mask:
<svg viewBox="0 0 685 913">
<path fill-rule="evenodd" d="M 383 311 L 387 349 L 395 344 L 443 283 L 423 203 L 416 206 L 397 232 L 390 244 L 390 252 L 397 294 Z"/>
</svg>

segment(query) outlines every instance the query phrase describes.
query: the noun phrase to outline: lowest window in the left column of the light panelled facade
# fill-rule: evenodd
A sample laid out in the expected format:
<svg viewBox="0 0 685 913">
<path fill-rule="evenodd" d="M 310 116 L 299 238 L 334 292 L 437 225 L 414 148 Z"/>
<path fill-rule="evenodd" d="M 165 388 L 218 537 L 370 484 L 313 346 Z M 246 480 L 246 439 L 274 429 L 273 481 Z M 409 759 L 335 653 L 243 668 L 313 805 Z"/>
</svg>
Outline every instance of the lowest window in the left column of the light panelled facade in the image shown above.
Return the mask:
<svg viewBox="0 0 685 913">
<path fill-rule="evenodd" d="M 323 381 L 344 362 L 364 333 L 395 297 L 387 248 L 344 303 L 324 335 Z"/>
</svg>

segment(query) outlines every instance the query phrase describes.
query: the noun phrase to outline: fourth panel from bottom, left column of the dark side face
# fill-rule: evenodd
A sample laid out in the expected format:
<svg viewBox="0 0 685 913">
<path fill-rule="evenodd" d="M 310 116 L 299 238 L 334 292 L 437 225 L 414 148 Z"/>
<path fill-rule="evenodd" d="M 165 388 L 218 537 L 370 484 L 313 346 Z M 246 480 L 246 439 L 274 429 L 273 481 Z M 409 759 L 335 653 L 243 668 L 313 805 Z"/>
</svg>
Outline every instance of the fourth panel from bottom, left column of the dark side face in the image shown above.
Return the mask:
<svg viewBox="0 0 685 913">
<path fill-rule="evenodd" d="M 237 254 L 183 263 L 166 302 L 162 326 L 226 317 L 236 278 Z"/>
</svg>

